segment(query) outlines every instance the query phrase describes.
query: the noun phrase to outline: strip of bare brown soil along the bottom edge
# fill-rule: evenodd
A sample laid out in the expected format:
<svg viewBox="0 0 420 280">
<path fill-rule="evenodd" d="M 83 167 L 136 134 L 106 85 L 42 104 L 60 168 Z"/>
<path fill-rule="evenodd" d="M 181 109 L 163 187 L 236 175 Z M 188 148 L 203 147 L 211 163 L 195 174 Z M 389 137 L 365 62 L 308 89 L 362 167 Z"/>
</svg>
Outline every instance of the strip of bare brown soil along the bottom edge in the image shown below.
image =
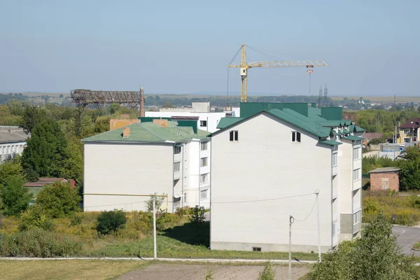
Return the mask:
<svg viewBox="0 0 420 280">
<path fill-rule="evenodd" d="M 256 280 L 262 271 L 260 265 L 174 265 L 174 264 L 153 264 L 145 269 L 134 270 L 123 276 L 119 280 L 204 280 L 208 269 L 214 270 L 213 277 L 216 280 Z M 276 273 L 275 279 L 288 279 L 288 267 L 283 265 L 273 265 Z M 292 279 L 297 280 L 309 272 L 309 266 L 292 267 Z"/>
</svg>

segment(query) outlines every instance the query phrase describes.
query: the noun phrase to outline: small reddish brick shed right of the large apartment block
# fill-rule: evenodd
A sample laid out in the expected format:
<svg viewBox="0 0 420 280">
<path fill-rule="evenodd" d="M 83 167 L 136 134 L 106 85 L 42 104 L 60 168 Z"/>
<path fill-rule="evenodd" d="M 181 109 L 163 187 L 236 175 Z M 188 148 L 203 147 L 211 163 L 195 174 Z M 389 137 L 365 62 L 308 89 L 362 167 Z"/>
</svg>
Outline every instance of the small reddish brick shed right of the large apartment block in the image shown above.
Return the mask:
<svg viewBox="0 0 420 280">
<path fill-rule="evenodd" d="M 369 172 L 370 190 L 400 190 L 400 168 L 382 167 Z"/>
</svg>

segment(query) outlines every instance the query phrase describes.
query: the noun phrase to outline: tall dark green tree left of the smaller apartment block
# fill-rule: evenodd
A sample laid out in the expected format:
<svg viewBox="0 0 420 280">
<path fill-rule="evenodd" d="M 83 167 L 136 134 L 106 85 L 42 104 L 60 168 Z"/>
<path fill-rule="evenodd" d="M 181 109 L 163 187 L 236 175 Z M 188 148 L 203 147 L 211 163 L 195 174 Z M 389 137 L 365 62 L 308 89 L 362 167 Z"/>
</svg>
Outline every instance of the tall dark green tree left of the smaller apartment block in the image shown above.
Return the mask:
<svg viewBox="0 0 420 280">
<path fill-rule="evenodd" d="M 69 158 L 66 146 L 64 133 L 55 121 L 47 118 L 32 130 L 22 153 L 22 166 L 34 169 L 39 176 L 59 177 Z"/>
</svg>

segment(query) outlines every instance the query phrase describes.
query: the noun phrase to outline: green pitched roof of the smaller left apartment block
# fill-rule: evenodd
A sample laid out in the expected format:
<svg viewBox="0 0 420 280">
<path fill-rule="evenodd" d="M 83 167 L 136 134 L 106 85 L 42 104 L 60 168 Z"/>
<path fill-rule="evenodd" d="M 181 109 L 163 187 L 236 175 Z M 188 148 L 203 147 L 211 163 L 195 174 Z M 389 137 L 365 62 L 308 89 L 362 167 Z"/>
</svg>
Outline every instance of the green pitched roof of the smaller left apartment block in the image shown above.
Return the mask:
<svg viewBox="0 0 420 280">
<path fill-rule="evenodd" d="M 174 122 L 168 122 L 168 127 L 155 123 L 136 123 L 128 125 L 130 137 L 123 138 L 123 127 L 109 132 L 94 135 L 83 139 L 83 142 L 139 142 L 162 143 L 165 141 L 183 142 L 187 139 L 206 139 L 209 132 L 198 130 L 194 133 L 193 127 L 178 127 Z"/>
</svg>

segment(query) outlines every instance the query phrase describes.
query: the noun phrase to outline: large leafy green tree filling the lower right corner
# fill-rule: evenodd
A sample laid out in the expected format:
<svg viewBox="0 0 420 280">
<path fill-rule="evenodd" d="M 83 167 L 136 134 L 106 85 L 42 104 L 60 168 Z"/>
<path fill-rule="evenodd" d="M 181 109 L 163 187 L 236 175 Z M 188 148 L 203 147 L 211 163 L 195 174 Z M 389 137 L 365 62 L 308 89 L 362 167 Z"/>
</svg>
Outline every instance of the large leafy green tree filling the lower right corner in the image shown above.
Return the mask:
<svg viewBox="0 0 420 280">
<path fill-rule="evenodd" d="M 323 261 L 314 265 L 307 279 L 417 279 L 414 258 L 401 255 L 395 239 L 391 221 L 379 214 L 363 229 L 360 239 L 344 242 L 323 255 Z"/>
</svg>

